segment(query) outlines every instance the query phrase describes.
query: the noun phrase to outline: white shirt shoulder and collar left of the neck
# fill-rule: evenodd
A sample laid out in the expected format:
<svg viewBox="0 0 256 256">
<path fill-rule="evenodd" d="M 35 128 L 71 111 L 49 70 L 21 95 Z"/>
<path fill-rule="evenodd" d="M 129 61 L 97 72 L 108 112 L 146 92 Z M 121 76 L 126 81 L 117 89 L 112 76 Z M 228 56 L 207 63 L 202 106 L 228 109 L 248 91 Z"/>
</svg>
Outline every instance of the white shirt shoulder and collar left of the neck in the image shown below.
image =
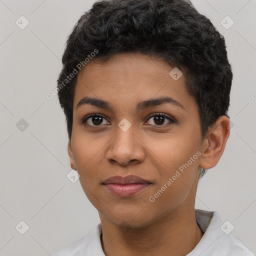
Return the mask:
<svg viewBox="0 0 256 256">
<path fill-rule="evenodd" d="M 100 244 L 100 232 L 101 224 L 97 224 L 88 235 L 83 236 L 52 256 L 103 256 L 104 254 L 102 254 L 103 252 Z"/>
</svg>

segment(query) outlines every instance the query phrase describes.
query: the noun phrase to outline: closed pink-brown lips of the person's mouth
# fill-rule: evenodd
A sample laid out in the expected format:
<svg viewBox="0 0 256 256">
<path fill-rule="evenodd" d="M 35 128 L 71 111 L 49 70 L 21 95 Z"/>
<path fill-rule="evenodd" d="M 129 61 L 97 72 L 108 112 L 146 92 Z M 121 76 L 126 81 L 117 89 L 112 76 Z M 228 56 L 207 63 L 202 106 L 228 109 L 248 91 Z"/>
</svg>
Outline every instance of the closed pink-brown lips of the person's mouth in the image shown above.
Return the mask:
<svg viewBox="0 0 256 256">
<path fill-rule="evenodd" d="M 148 185 L 151 184 L 146 179 L 134 175 L 112 176 L 102 182 L 104 187 L 112 194 L 117 196 L 131 196 L 134 195 Z"/>
</svg>

